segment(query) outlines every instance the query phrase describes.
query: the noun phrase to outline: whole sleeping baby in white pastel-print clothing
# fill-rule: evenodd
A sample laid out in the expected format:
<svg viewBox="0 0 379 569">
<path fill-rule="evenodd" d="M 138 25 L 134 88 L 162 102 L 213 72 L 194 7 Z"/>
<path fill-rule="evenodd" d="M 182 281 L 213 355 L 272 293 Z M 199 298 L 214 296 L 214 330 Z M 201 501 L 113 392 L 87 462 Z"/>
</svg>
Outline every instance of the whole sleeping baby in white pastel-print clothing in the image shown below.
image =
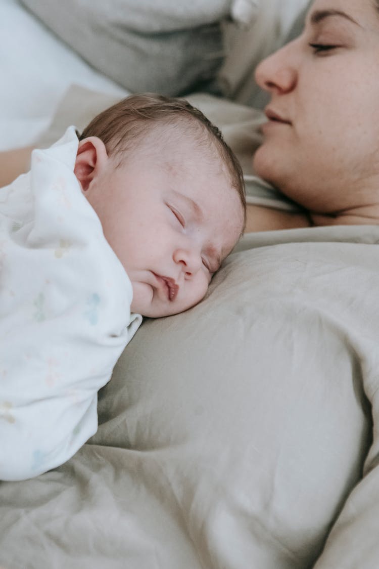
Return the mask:
<svg viewBox="0 0 379 569">
<path fill-rule="evenodd" d="M 0 191 L 0 480 L 68 460 L 141 323 L 206 294 L 245 222 L 232 151 L 188 102 L 136 95 Z"/>
</svg>

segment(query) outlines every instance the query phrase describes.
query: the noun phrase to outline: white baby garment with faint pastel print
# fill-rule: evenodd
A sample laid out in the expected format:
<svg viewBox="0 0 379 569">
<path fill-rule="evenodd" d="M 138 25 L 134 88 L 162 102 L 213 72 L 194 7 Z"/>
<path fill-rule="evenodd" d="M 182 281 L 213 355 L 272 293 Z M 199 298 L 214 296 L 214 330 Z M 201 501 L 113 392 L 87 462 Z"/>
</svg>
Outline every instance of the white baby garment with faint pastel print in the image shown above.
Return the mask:
<svg viewBox="0 0 379 569">
<path fill-rule="evenodd" d="M 0 189 L 0 480 L 37 476 L 97 430 L 97 392 L 141 322 L 73 173 L 74 127 Z"/>
</svg>

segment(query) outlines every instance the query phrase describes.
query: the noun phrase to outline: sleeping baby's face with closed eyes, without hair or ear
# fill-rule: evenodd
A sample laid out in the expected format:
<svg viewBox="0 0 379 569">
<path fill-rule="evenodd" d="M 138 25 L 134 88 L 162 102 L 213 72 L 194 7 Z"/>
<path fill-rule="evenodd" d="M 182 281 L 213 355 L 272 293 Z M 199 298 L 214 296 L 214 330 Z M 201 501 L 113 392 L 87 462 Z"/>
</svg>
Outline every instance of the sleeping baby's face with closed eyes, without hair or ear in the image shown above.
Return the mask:
<svg viewBox="0 0 379 569">
<path fill-rule="evenodd" d="M 117 168 L 110 157 L 85 192 L 131 280 L 132 312 L 153 318 L 205 296 L 243 227 L 221 159 L 180 146 L 142 148 Z"/>
</svg>

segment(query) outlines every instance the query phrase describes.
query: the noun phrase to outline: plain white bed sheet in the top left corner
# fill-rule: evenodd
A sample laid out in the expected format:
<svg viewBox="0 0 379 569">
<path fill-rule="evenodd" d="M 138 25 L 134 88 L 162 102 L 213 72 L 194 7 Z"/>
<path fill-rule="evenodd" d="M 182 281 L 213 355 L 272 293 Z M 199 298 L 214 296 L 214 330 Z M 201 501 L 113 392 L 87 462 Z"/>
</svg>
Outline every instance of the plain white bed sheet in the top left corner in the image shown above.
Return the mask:
<svg viewBox="0 0 379 569">
<path fill-rule="evenodd" d="M 0 151 L 31 145 L 72 84 L 128 94 L 94 71 L 18 0 L 0 0 L 0 74 Z"/>
</svg>

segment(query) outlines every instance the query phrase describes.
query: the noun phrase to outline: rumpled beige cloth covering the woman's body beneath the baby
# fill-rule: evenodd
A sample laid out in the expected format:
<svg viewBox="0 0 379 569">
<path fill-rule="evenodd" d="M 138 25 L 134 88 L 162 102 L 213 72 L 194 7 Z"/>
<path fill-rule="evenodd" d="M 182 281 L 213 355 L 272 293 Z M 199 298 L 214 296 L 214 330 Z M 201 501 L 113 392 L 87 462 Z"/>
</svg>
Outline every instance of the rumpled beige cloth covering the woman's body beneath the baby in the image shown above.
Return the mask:
<svg viewBox="0 0 379 569">
<path fill-rule="evenodd" d="M 376 569 L 378 241 L 249 234 L 202 303 L 145 320 L 97 434 L 0 483 L 0 565 Z"/>
</svg>

